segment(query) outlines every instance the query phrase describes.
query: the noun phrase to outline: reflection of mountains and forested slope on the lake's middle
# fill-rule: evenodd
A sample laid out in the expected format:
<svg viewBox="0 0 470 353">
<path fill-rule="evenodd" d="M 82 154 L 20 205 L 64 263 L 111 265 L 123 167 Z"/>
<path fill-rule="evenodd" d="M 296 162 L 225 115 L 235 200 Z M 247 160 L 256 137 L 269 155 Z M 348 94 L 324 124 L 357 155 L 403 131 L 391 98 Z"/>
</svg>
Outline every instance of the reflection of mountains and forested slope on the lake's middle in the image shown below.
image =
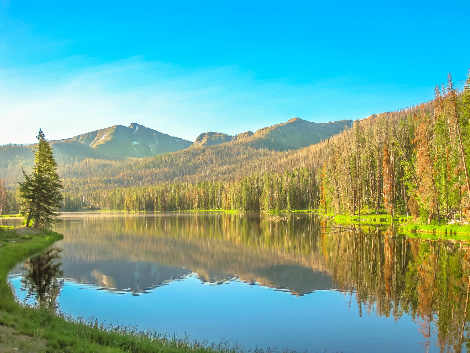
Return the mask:
<svg viewBox="0 0 470 353">
<path fill-rule="evenodd" d="M 207 284 L 237 279 L 301 296 L 335 288 L 312 251 L 319 225 L 311 216 L 273 223 L 198 213 L 84 218 L 57 231 L 65 234 L 66 277 L 101 289 L 138 294 L 196 274 Z"/>
</svg>

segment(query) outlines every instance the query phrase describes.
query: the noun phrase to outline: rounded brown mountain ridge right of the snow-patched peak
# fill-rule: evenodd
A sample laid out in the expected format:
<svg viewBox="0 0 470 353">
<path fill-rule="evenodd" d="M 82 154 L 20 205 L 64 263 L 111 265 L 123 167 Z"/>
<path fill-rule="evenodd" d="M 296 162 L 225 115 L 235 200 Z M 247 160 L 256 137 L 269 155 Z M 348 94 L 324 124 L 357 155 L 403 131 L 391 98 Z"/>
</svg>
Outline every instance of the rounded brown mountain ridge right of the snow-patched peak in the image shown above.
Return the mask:
<svg viewBox="0 0 470 353">
<path fill-rule="evenodd" d="M 295 150 L 316 144 L 321 140 L 339 134 L 352 126 L 352 120 L 333 122 L 311 122 L 299 118 L 260 128 L 255 133 L 243 132 L 236 136 L 217 132 L 207 132 L 197 136 L 191 147 L 211 146 L 223 143 L 246 144 L 255 148 L 267 148 L 273 151 Z"/>
</svg>

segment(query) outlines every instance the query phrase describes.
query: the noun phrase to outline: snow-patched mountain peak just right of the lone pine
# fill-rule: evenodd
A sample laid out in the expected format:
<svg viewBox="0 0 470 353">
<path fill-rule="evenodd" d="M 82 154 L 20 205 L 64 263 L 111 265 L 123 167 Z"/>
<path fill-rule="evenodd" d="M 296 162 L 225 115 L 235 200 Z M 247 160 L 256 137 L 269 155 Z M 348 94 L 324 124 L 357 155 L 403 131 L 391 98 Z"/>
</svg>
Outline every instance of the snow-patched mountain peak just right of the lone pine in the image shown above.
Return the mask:
<svg viewBox="0 0 470 353">
<path fill-rule="evenodd" d="M 143 125 L 114 125 L 64 140 L 51 141 L 54 152 L 73 157 L 149 157 L 188 148 L 190 141 Z"/>
</svg>

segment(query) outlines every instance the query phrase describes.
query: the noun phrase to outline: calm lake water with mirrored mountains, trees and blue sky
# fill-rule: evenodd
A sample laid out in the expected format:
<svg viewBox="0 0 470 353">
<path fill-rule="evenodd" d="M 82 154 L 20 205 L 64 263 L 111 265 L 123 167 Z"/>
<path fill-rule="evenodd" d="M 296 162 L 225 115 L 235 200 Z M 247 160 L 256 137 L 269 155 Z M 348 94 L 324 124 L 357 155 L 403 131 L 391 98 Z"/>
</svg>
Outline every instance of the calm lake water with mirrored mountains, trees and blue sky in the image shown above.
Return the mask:
<svg viewBox="0 0 470 353">
<path fill-rule="evenodd" d="M 31 304 L 246 349 L 467 350 L 466 244 L 321 225 L 309 214 L 67 214 L 64 240 L 9 278 Z"/>
</svg>

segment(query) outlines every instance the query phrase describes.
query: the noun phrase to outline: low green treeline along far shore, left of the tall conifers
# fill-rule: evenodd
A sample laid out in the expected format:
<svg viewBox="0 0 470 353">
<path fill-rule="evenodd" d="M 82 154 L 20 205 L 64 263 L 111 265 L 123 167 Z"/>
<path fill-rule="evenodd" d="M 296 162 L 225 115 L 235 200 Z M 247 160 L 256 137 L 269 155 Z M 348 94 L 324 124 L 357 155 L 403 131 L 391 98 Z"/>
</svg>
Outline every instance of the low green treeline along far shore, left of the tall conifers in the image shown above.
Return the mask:
<svg viewBox="0 0 470 353">
<path fill-rule="evenodd" d="M 126 211 L 182 210 L 293 210 L 316 209 L 319 193 L 316 173 L 308 168 L 293 172 L 265 172 L 236 181 L 95 190 L 86 195 L 65 193 L 64 210 L 81 207 Z"/>
</svg>

